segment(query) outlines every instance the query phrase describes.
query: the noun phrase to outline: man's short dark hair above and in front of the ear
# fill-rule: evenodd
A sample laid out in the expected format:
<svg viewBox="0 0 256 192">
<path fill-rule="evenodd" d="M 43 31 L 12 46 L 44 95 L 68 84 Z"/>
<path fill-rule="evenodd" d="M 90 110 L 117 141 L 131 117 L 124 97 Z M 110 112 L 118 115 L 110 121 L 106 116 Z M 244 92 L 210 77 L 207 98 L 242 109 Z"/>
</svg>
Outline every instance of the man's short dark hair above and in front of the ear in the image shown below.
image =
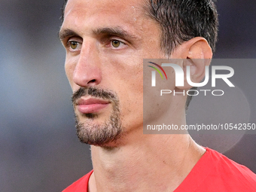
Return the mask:
<svg viewBox="0 0 256 192">
<path fill-rule="evenodd" d="M 62 21 L 68 0 L 64 1 Z M 178 44 L 195 37 L 206 38 L 212 51 L 215 51 L 218 14 L 212 0 L 149 0 L 145 9 L 148 15 L 160 24 L 161 49 L 167 56 Z M 187 96 L 186 109 L 191 99 L 192 96 Z"/>
</svg>

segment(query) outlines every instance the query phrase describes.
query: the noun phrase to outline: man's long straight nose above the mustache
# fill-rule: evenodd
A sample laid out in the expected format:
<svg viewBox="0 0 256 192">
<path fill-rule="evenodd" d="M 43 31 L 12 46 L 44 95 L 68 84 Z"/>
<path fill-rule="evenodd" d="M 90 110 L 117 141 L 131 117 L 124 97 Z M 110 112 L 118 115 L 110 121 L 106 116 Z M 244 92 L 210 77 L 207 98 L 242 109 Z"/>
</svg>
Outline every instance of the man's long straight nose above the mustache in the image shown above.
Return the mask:
<svg viewBox="0 0 256 192">
<path fill-rule="evenodd" d="M 81 51 L 73 73 L 73 81 L 80 87 L 93 87 L 102 81 L 99 51 L 96 45 L 87 42 Z"/>
</svg>

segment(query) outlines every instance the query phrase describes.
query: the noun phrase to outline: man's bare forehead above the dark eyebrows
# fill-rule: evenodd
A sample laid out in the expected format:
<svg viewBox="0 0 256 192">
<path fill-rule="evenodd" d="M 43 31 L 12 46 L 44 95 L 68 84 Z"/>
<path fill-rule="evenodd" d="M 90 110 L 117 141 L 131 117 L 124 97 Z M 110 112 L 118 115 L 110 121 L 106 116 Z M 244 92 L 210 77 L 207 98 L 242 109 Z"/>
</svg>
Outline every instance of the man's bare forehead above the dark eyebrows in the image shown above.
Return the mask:
<svg viewBox="0 0 256 192">
<path fill-rule="evenodd" d="M 62 26 L 142 24 L 146 19 L 144 0 L 69 0 Z M 149 17 L 148 17 L 149 18 Z M 147 18 L 147 19 L 148 19 Z"/>
</svg>

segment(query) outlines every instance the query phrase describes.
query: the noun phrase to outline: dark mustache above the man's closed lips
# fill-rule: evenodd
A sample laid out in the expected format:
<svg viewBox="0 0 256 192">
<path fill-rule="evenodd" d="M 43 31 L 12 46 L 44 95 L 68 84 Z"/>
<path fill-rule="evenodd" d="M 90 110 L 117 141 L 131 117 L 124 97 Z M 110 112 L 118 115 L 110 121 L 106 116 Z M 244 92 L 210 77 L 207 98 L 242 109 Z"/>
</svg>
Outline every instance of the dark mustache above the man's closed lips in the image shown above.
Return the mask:
<svg viewBox="0 0 256 192">
<path fill-rule="evenodd" d="M 75 93 L 72 95 L 72 102 L 75 104 L 75 102 L 81 98 L 81 96 L 93 96 L 99 99 L 108 99 L 111 101 L 116 101 L 117 96 L 110 90 L 103 90 L 96 87 L 80 87 Z"/>
</svg>

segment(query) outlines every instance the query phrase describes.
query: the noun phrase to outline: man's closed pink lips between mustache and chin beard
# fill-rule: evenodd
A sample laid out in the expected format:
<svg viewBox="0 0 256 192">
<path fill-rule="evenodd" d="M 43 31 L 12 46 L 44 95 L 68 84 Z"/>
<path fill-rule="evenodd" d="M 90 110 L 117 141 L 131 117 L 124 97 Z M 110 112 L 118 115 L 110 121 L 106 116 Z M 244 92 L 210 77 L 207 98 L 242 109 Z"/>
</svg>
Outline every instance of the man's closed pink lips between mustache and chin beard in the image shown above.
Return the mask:
<svg viewBox="0 0 256 192">
<path fill-rule="evenodd" d="M 110 104 L 109 101 L 102 99 L 78 99 L 78 111 L 82 114 L 91 114 L 101 111 Z"/>
</svg>

